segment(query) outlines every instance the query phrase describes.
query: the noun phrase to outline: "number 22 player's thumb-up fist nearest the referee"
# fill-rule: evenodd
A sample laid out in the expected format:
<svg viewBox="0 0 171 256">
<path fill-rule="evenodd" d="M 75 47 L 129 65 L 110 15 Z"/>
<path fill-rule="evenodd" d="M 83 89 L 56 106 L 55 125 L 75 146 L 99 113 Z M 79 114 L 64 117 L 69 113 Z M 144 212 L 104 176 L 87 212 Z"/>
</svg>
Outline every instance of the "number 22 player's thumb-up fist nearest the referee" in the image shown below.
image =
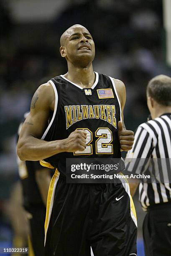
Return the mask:
<svg viewBox="0 0 171 256">
<path fill-rule="evenodd" d="M 120 148 L 123 151 L 128 151 L 133 147 L 134 132 L 123 128 L 123 123 L 118 122 L 118 137 L 120 141 Z"/>
</svg>

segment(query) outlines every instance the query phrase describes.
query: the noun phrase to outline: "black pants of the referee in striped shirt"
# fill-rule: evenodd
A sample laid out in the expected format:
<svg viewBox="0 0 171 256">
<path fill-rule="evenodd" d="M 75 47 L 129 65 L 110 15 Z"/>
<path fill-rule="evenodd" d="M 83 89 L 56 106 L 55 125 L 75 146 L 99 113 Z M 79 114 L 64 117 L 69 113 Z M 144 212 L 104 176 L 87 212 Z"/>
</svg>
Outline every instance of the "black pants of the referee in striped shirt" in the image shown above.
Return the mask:
<svg viewBox="0 0 171 256">
<path fill-rule="evenodd" d="M 171 256 L 171 202 L 148 207 L 143 239 L 145 256 Z"/>
</svg>

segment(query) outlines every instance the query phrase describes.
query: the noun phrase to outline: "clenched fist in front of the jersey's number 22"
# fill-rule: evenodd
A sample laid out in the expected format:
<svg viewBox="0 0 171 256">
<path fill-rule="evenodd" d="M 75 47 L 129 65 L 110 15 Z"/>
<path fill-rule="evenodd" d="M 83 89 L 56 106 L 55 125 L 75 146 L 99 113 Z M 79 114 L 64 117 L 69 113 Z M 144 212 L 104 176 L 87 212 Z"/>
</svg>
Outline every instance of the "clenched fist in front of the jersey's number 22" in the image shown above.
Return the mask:
<svg viewBox="0 0 171 256">
<path fill-rule="evenodd" d="M 66 152 L 83 151 L 86 148 L 87 132 L 75 130 L 65 139 Z"/>
</svg>

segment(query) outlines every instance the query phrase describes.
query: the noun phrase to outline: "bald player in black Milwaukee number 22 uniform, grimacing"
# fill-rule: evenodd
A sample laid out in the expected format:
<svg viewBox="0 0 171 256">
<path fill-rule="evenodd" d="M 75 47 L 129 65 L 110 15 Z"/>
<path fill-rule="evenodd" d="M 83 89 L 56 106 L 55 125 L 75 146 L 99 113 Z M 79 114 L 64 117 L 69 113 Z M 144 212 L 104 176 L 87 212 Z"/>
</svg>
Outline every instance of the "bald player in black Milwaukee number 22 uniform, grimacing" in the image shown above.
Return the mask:
<svg viewBox="0 0 171 256">
<path fill-rule="evenodd" d="M 68 184 L 65 169 L 66 158 L 120 158 L 120 148 L 132 148 L 133 132 L 123 124 L 125 85 L 93 72 L 94 41 L 83 26 L 68 28 L 60 42 L 68 72 L 35 92 L 18 142 L 21 160 L 58 169 L 48 193 L 46 256 L 90 256 L 90 247 L 94 256 L 136 256 L 128 184 Z"/>
</svg>

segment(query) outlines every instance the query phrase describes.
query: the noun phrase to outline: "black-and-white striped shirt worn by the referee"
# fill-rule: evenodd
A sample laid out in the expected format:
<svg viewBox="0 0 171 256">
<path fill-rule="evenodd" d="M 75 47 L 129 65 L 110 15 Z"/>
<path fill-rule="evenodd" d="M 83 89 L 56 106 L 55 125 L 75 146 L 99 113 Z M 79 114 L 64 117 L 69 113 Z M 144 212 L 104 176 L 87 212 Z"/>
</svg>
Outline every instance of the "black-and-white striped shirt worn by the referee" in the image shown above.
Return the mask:
<svg viewBox="0 0 171 256">
<path fill-rule="evenodd" d="M 127 171 L 151 174 L 153 177 L 150 183 L 141 181 L 139 185 L 139 200 L 143 210 L 150 205 L 171 202 L 171 113 L 138 126 L 133 148 L 128 151 L 125 160 L 130 157 L 139 161 L 143 159 L 145 164 L 140 169 L 137 168 L 137 160 L 129 162 Z"/>
</svg>

